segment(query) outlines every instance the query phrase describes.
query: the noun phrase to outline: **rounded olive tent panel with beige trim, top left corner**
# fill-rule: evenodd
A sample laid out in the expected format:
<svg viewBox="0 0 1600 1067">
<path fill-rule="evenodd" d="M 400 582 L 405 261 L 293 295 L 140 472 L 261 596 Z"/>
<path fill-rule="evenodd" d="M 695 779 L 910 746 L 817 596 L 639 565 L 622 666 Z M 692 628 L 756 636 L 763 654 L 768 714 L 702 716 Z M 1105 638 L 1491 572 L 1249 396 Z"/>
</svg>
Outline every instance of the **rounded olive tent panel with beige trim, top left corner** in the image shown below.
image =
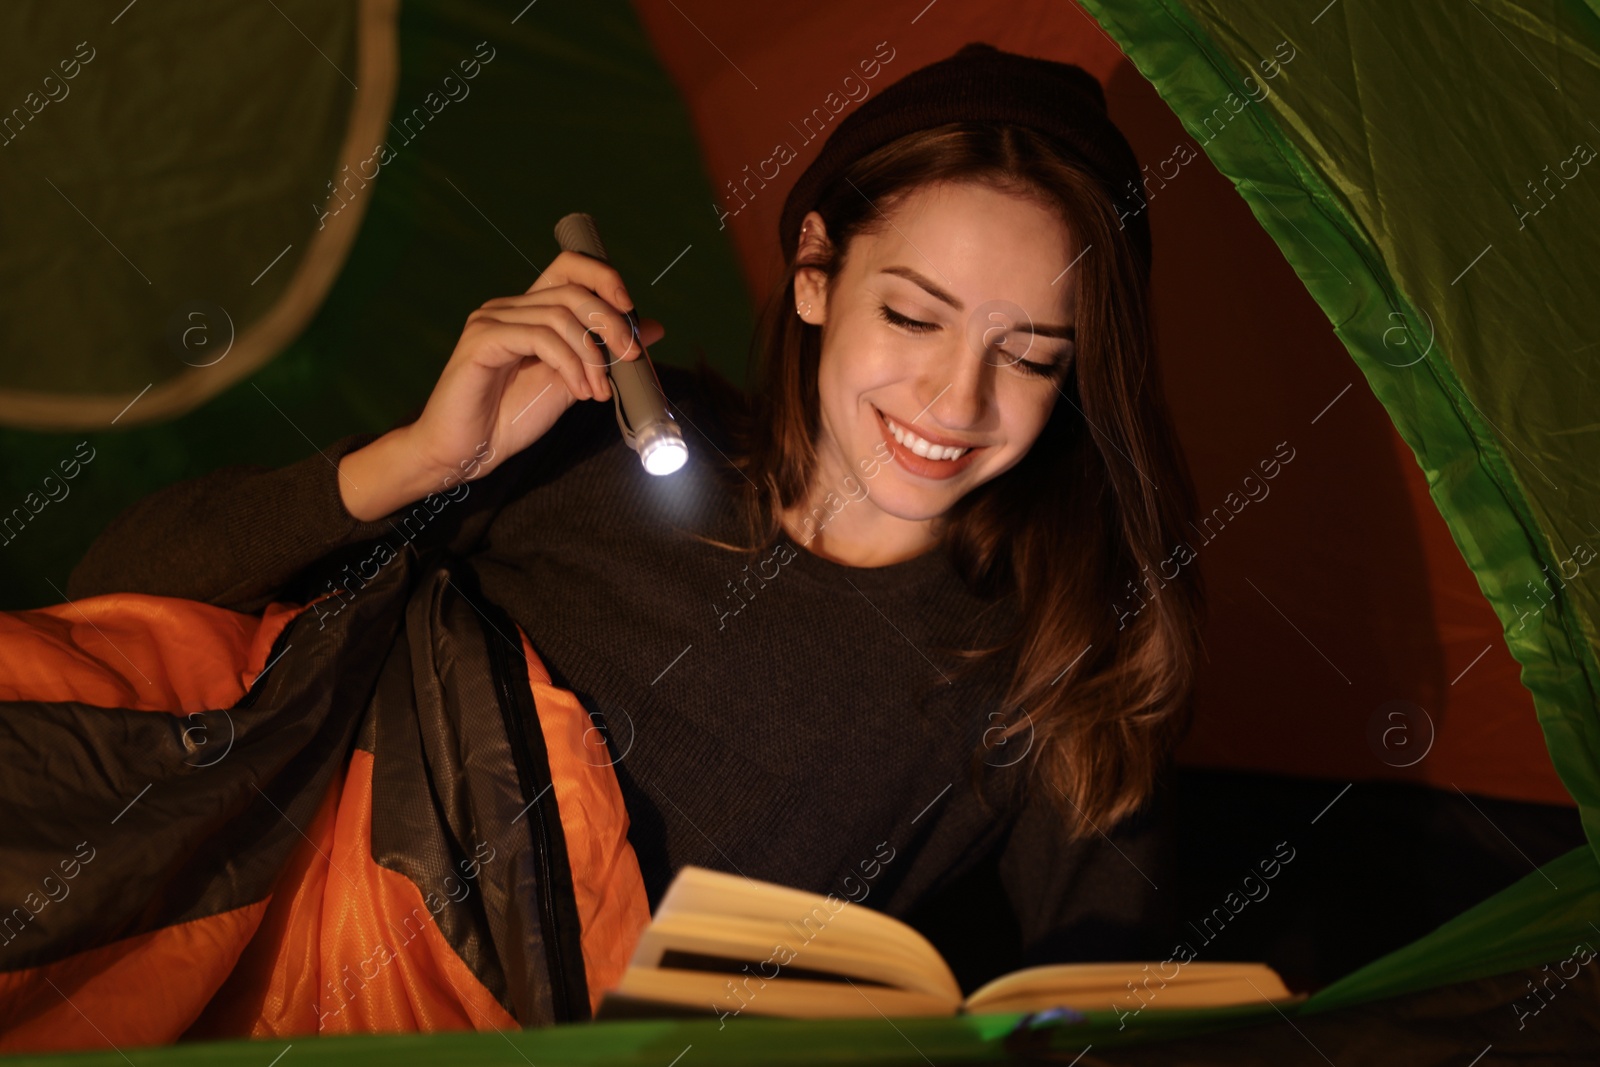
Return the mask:
<svg viewBox="0 0 1600 1067">
<path fill-rule="evenodd" d="M 306 326 L 360 229 L 370 198 L 350 168 L 394 110 L 397 56 L 392 2 L 302 14 L 170 5 L 85 26 L 59 5 L 11 10 L 27 32 L 6 35 L 6 69 L 27 80 L 6 86 L 22 107 L 0 120 L 0 197 L 30 210 L 5 219 L 0 278 L 26 309 L 5 342 L 53 358 L 0 366 L 0 422 L 170 419 Z M 139 165 L 106 181 L 123 160 Z M 306 194 L 334 181 L 318 218 Z"/>
</svg>

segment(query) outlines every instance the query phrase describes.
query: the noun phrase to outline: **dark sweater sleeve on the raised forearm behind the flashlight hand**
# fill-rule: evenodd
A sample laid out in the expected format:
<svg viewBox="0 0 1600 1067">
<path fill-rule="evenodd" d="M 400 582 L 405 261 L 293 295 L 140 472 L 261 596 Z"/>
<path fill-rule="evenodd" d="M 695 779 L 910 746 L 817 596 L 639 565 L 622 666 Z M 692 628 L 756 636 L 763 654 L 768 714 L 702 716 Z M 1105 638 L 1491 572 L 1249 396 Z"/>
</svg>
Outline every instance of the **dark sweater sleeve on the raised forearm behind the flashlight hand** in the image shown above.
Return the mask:
<svg viewBox="0 0 1600 1067">
<path fill-rule="evenodd" d="M 125 509 L 67 577 L 74 600 L 109 592 L 258 611 L 318 558 L 389 531 L 339 496 L 339 459 L 376 440 L 352 434 L 286 467 L 232 466 Z"/>
</svg>

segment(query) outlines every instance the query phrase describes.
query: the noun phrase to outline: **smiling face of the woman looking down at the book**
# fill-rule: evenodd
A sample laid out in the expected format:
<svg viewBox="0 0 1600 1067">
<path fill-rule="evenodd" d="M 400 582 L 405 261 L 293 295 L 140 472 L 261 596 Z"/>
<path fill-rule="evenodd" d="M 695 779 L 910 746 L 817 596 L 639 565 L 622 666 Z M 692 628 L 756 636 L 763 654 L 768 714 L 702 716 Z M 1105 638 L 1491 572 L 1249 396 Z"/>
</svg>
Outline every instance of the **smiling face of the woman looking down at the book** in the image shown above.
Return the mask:
<svg viewBox="0 0 1600 1067">
<path fill-rule="evenodd" d="M 805 222 L 802 250 L 822 232 Z M 1022 459 L 1074 358 L 1077 258 L 1040 202 L 944 182 L 858 235 L 830 293 L 802 270 L 797 306 L 822 328 L 814 490 L 870 477 L 854 507 L 880 515 L 856 528 L 904 536 L 893 520 L 926 526 Z"/>
</svg>

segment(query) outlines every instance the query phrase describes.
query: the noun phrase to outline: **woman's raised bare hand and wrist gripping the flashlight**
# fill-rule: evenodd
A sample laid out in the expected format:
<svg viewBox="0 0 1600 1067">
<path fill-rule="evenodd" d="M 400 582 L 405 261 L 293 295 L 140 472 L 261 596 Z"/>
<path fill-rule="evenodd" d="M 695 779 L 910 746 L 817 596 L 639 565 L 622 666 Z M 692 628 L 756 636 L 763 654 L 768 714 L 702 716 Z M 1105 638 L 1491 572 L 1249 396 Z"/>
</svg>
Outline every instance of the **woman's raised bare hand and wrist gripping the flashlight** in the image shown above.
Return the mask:
<svg viewBox="0 0 1600 1067">
<path fill-rule="evenodd" d="M 595 336 L 613 360 L 637 360 L 643 349 L 622 315 L 632 307 L 614 269 L 570 251 L 522 296 L 485 302 L 467 315 L 416 422 L 339 461 L 346 510 L 381 518 L 454 482 L 482 478 L 539 440 L 574 402 L 610 400 L 606 350 Z M 664 334 L 661 323 L 640 320 L 643 344 Z"/>
</svg>

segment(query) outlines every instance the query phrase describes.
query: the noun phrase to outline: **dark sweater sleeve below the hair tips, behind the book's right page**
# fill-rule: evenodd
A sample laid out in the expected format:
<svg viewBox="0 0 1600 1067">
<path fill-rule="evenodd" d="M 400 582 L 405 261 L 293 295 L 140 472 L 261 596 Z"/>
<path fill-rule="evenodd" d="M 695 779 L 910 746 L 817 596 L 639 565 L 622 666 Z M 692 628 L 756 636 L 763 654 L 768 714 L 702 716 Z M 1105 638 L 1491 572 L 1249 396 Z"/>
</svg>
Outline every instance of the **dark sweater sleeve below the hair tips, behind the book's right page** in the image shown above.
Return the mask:
<svg viewBox="0 0 1600 1067">
<path fill-rule="evenodd" d="M 1069 841 L 1043 787 L 1032 790 L 1005 849 L 1000 881 L 1022 934 L 1022 966 L 1163 958 L 1178 886 L 1168 784 L 1106 832 Z"/>
</svg>

